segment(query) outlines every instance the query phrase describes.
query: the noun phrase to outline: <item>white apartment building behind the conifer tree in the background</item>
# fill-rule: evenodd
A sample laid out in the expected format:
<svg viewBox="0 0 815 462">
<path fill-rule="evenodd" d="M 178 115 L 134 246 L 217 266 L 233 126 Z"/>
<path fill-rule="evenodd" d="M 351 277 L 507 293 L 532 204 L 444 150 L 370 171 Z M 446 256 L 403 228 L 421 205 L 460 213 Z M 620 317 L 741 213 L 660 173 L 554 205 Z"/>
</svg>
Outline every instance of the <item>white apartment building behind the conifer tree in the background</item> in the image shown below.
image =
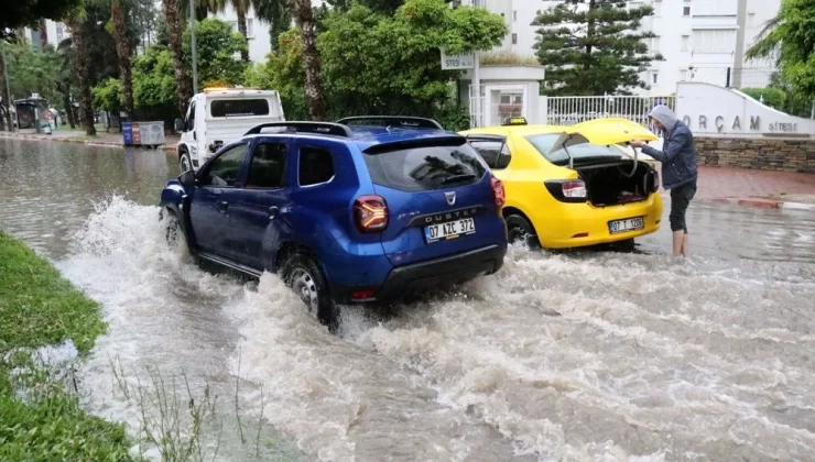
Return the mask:
<svg viewBox="0 0 815 462">
<path fill-rule="evenodd" d="M 532 22 L 539 11 L 559 3 L 541 0 L 459 0 L 501 14 L 510 32 L 493 52 L 534 56 L 537 41 Z M 748 62 L 743 54 L 779 11 L 780 0 L 632 0 L 629 8 L 650 4 L 651 18 L 641 24 L 656 36 L 650 50 L 663 56 L 641 75 L 650 88 L 642 94 L 670 95 L 678 81 L 705 81 L 738 87 L 769 84 L 772 61 Z M 742 8 L 739 14 L 739 8 Z M 586 4 L 578 8 L 587 8 Z M 728 69 L 730 76 L 728 79 Z"/>
</svg>

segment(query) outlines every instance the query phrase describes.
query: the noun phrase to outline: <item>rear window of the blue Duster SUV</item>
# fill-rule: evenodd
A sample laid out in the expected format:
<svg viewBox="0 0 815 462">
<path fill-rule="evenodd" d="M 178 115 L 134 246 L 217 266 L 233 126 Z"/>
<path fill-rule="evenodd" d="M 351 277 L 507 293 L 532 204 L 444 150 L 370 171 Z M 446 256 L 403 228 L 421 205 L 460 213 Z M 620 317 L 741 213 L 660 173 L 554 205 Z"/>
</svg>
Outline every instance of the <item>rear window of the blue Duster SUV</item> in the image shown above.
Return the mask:
<svg viewBox="0 0 815 462">
<path fill-rule="evenodd" d="M 365 154 L 365 161 L 376 185 L 403 191 L 470 185 L 487 172 L 483 161 L 467 143 Z"/>
</svg>

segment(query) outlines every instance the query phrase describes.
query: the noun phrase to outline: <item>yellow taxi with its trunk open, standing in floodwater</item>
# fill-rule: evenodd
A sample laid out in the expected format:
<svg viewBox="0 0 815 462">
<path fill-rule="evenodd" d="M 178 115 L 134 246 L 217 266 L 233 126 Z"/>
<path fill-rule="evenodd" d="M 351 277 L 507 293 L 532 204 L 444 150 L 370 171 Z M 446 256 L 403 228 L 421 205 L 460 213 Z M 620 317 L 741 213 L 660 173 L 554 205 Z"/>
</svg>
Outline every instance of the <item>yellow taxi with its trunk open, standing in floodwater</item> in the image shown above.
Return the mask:
<svg viewBox="0 0 815 462">
<path fill-rule="evenodd" d="M 547 249 L 624 243 L 655 232 L 662 220 L 654 160 L 628 146 L 656 141 L 624 119 L 570 127 L 501 127 L 461 132 L 501 182 L 510 242 Z"/>
</svg>

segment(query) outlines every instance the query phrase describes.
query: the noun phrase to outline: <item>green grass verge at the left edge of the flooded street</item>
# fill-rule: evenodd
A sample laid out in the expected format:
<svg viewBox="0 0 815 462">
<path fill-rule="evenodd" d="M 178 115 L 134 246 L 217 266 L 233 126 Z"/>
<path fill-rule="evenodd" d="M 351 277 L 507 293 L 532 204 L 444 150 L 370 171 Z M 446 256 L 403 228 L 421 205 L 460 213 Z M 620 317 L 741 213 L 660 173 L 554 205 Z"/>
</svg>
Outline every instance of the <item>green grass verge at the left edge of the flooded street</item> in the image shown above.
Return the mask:
<svg viewBox="0 0 815 462">
<path fill-rule="evenodd" d="M 122 461 L 132 446 L 124 428 L 79 408 L 77 397 L 18 348 L 70 339 L 87 353 L 105 332 L 99 306 L 74 288 L 45 258 L 0 232 L 0 461 Z M 29 398 L 15 387 L 24 384 Z M 35 392 L 35 393 L 31 393 Z"/>
</svg>

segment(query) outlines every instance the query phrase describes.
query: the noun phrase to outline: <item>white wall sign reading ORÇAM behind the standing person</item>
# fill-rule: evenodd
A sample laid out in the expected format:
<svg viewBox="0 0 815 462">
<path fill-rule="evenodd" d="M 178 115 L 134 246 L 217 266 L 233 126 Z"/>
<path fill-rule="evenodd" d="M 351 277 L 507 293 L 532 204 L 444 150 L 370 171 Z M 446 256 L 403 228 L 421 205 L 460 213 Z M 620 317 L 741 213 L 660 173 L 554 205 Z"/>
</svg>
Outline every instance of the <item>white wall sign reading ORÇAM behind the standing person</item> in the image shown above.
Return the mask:
<svg viewBox="0 0 815 462">
<path fill-rule="evenodd" d="M 815 136 L 815 120 L 776 111 L 740 91 L 710 84 L 678 84 L 676 116 L 695 135 Z"/>
</svg>

